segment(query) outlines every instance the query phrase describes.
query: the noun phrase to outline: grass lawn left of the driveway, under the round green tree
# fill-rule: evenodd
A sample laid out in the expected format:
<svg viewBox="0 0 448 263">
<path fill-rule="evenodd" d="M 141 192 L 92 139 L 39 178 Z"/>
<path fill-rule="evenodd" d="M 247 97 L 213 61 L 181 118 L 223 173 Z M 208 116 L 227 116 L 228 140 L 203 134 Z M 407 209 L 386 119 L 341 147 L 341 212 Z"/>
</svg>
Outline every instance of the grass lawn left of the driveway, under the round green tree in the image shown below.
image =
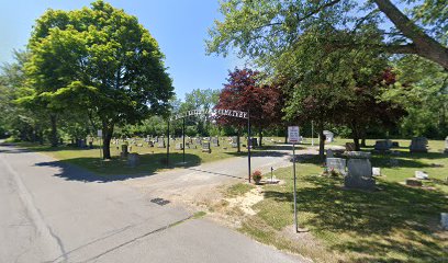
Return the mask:
<svg viewBox="0 0 448 263">
<path fill-rule="evenodd" d="M 242 138 L 243 141 L 243 138 Z M 181 140 L 177 140 L 181 142 Z M 19 146 L 26 147 L 30 150 L 48 155 L 63 162 L 71 163 L 91 172 L 101 175 L 139 175 L 152 174 L 156 171 L 167 169 L 166 158 L 167 149 L 148 147 L 143 139 L 137 139 L 136 145 L 143 144 L 143 147 L 132 146 L 130 152 L 139 155 L 139 164 L 135 168 L 127 165 L 126 159 L 120 158 L 120 145 L 111 145 L 112 160 L 102 161 L 100 159 L 101 150 L 99 141 L 96 141 L 94 149 L 79 149 L 76 147 L 56 147 L 40 146 L 36 144 L 19 142 Z M 266 141 L 269 146 L 272 142 Z M 242 144 L 243 145 L 243 144 Z M 170 142 L 169 168 L 194 167 L 201 163 L 222 160 L 225 158 L 246 156 L 247 150 L 242 146 L 242 152 L 232 148 L 226 138 L 220 140 L 220 147 L 211 147 L 212 152 L 202 152 L 201 146 L 193 145 L 191 149 L 186 149 L 186 163 L 183 162 L 182 150 L 175 149 L 175 142 Z M 264 148 L 253 150 L 254 153 L 262 151 Z"/>
</svg>

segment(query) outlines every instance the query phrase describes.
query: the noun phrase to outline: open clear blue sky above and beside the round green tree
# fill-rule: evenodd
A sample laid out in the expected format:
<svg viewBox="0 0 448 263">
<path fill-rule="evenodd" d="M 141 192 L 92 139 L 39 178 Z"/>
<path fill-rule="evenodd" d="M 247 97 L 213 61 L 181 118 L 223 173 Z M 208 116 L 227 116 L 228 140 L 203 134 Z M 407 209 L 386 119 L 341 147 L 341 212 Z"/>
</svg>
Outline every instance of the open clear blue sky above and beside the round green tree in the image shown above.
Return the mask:
<svg viewBox="0 0 448 263">
<path fill-rule="evenodd" d="M 24 47 L 34 21 L 48 8 L 72 10 L 86 0 L 0 0 L 0 62 L 12 61 L 12 50 Z M 244 65 L 235 56 L 205 56 L 208 28 L 219 19 L 217 0 L 109 0 L 138 18 L 159 43 L 177 96 L 193 89 L 221 89 L 229 69 Z"/>
</svg>

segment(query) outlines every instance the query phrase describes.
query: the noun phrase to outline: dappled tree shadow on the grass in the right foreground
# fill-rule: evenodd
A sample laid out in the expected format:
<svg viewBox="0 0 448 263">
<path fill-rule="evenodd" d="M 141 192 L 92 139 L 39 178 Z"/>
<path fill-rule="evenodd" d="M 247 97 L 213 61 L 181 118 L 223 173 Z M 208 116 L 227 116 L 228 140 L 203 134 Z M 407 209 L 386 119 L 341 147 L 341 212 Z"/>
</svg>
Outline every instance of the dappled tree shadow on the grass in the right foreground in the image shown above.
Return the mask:
<svg viewBox="0 0 448 263">
<path fill-rule="evenodd" d="M 380 182 L 382 190 L 369 193 L 344 190 L 340 179 L 302 180 L 313 186 L 299 190 L 299 213 L 315 215 L 305 220 L 305 226 L 317 232 L 351 237 L 340 238 L 332 244 L 333 250 L 368 255 L 359 262 L 401 262 L 387 258 L 389 253 L 405 254 L 417 262 L 440 261 L 443 241 L 434 241 L 429 226 L 438 220 L 440 211 L 448 210 L 443 192 Z M 292 193 L 266 191 L 265 197 L 293 204 Z"/>
</svg>

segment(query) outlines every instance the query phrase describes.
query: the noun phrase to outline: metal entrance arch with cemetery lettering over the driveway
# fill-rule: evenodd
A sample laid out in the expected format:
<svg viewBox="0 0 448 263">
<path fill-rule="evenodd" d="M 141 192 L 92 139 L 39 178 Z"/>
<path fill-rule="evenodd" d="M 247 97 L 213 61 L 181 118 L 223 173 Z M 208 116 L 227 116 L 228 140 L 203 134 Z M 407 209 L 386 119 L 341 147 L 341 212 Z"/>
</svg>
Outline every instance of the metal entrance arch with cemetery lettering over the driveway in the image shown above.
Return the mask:
<svg viewBox="0 0 448 263">
<path fill-rule="evenodd" d="M 250 140 L 250 112 L 242 112 L 242 111 L 235 111 L 235 110 L 228 110 L 228 108 L 212 108 L 209 111 L 204 110 L 191 110 L 186 113 L 180 113 L 171 116 L 168 119 L 168 128 L 167 128 L 167 137 L 168 137 L 168 144 L 167 144 L 167 165 L 169 165 L 169 123 L 172 121 L 177 121 L 182 118 L 182 148 L 183 148 L 183 162 L 186 162 L 186 117 L 189 116 L 195 116 L 195 115 L 212 115 L 212 116 L 229 116 L 229 117 L 237 117 L 237 118 L 246 118 L 247 119 L 247 167 L 248 167 L 248 175 L 247 179 L 250 183 L 250 147 L 251 147 L 251 140 Z"/>
</svg>

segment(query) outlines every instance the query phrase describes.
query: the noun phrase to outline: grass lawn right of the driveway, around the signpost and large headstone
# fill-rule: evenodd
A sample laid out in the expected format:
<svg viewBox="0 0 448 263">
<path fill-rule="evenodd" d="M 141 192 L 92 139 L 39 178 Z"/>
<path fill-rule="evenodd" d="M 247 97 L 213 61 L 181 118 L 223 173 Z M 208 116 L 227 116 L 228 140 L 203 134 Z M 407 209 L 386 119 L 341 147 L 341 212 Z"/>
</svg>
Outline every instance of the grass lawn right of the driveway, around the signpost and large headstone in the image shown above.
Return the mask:
<svg viewBox="0 0 448 263">
<path fill-rule="evenodd" d="M 343 178 L 321 176 L 322 161 L 317 158 L 298 163 L 299 225 L 324 249 L 284 238 L 293 224 L 291 168 L 275 172 L 285 184 L 264 186 L 265 199 L 254 207 L 258 214 L 246 219 L 240 230 L 316 262 L 447 262 L 448 233 L 438 229 L 440 213 L 448 213 L 444 141 L 429 141 L 430 151 L 418 155 L 408 153 L 410 141 L 400 142 L 404 147 L 396 149 L 399 155 L 372 156 L 372 165 L 381 167 L 383 174 L 377 180 L 377 192 L 345 190 Z M 391 159 L 399 165 L 392 167 Z M 429 174 L 424 185 L 430 187 L 402 184 L 416 170 Z"/>
</svg>

